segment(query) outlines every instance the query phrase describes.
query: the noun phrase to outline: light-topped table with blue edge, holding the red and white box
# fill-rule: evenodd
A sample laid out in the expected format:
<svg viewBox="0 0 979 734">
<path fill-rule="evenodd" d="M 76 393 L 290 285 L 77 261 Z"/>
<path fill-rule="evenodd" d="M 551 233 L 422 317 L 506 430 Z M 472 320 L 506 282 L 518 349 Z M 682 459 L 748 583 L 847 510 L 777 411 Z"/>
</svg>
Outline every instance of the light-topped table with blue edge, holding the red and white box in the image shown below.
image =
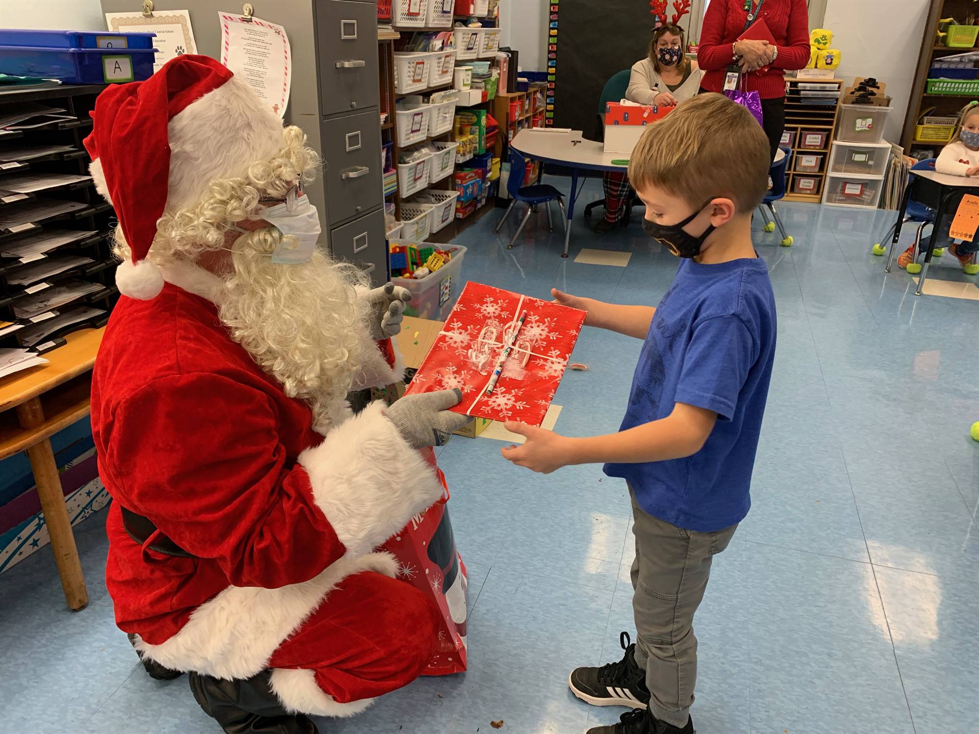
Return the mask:
<svg viewBox="0 0 979 734">
<path fill-rule="evenodd" d="M 625 161 L 624 153 L 605 153 L 602 144 L 594 140 L 584 140 L 581 130 L 571 132 L 548 132 L 532 128 L 521 130 L 511 141 L 525 158 L 545 163 L 554 163 L 571 168 L 571 194 L 568 197 L 568 221 L 564 229 L 564 253 L 568 256 L 571 244 L 571 220 L 575 215 L 575 200 L 578 199 L 578 172 L 584 170 L 620 171 L 625 173 L 629 164 L 616 164 L 612 161 Z"/>
</svg>

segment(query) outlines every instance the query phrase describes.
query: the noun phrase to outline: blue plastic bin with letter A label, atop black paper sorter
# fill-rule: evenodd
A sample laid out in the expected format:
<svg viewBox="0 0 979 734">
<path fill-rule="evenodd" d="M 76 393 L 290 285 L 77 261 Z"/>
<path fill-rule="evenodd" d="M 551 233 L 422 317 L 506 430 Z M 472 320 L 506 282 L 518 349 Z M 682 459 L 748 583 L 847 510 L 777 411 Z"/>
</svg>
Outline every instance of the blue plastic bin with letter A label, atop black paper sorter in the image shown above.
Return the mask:
<svg viewBox="0 0 979 734">
<path fill-rule="evenodd" d="M 142 81 L 153 75 L 157 50 L 0 46 L 0 73 L 61 79 L 68 84 Z"/>
</svg>

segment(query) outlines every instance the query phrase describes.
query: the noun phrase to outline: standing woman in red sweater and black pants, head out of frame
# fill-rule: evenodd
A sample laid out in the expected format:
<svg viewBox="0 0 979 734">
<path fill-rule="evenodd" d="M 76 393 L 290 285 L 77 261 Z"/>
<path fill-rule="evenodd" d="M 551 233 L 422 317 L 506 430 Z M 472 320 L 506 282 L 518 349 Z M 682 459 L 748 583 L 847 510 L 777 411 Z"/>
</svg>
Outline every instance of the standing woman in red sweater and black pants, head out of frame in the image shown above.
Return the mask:
<svg viewBox="0 0 979 734">
<path fill-rule="evenodd" d="M 739 41 L 749 13 L 764 18 L 775 43 Z M 809 64 L 809 10 L 806 0 L 711 0 L 700 29 L 697 64 L 704 70 L 700 89 L 723 90 L 724 71 L 741 68 L 743 88 L 762 98 L 765 134 L 769 137 L 771 160 L 785 127 L 785 71 Z M 770 65 L 770 66 L 769 66 Z M 759 72 L 757 69 L 768 66 Z"/>
</svg>

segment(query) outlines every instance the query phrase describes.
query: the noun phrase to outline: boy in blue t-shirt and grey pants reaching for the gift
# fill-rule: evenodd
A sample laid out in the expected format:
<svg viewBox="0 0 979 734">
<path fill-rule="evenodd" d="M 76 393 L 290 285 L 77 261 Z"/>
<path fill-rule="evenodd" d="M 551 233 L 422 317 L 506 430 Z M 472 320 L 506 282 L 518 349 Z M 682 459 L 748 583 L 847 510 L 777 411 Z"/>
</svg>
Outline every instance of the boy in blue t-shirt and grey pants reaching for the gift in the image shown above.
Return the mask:
<svg viewBox="0 0 979 734">
<path fill-rule="evenodd" d="M 681 103 L 650 126 L 629 180 L 646 205 L 643 227 L 679 255 L 657 308 L 554 291 L 587 311 L 585 324 L 644 339 L 618 434 L 569 438 L 521 424 L 503 456 L 535 472 L 605 463 L 629 482 L 635 535 L 636 644 L 569 685 L 596 706 L 625 706 L 587 734 L 691 734 L 697 673 L 693 615 L 750 505 L 749 485 L 775 350 L 768 268 L 751 242 L 765 195 L 769 143 L 755 118 L 719 94 Z"/>
</svg>

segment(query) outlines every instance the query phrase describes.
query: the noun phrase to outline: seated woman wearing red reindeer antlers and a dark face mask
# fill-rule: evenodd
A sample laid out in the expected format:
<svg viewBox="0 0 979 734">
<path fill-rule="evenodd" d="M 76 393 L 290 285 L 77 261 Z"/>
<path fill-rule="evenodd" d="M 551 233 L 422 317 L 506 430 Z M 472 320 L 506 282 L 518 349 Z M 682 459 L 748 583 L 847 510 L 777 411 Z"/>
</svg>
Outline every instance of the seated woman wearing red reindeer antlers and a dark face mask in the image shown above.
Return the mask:
<svg viewBox="0 0 979 734">
<path fill-rule="evenodd" d="M 690 0 L 675 0 L 676 13 L 668 22 L 668 0 L 652 0 L 649 6 L 657 18 L 649 52 L 645 59 L 632 65 L 626 99 L 640 105 L 673 107 L 688 100 L 700 90 L 703 72 L 686 58 L 686 33 L 679 19 L 689 12 Z M 625 173 L 606 172 L 602 177 L 605 189 L 605 217 L 595 224 L 595 232 L 605 234 L 616 226 L 629 223 L 629 202 L 634 194 Z"/>
</svg>

